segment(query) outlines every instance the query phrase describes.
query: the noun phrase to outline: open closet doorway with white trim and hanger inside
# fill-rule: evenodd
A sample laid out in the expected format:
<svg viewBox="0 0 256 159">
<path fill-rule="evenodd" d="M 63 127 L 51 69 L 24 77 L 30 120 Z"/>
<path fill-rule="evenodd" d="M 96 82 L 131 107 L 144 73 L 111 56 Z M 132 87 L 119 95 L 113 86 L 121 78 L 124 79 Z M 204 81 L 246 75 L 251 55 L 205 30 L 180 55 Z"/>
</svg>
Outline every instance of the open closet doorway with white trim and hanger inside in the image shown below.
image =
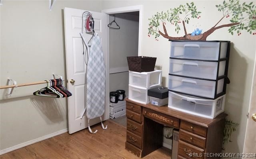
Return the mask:
<svg viewBox="0 0 256 159">
<path fill-rule="evenodd" d="M 140 56 L 142 6 L 114 8 L 102 12 L 109 16 L 106 18 L 109 20 L 109 90 L 125 90 L 128 97 L 129 69 L 126 57 Z M 122 117 L 119 118 L 119 115 Z M 114 117 L 115 122 L 126 126 L 126 117 L 123 113 Z"/>
</svg>

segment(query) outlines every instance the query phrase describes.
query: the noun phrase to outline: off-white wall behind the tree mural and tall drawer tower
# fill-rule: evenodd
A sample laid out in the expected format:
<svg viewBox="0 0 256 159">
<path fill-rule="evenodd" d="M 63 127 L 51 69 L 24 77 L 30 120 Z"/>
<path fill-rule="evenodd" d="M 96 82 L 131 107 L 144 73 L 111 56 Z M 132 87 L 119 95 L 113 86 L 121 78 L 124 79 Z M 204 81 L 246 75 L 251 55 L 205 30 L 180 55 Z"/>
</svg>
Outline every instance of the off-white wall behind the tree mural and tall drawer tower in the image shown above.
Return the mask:
<svg viewBox="0 0 256 159">
<path fill-rule="evenodd" d="M 191 0 L 192 1 L 192 0 Z M 151 18 L 156 12 L 166 12 L 170 8 L 178 7 L 180 4 L 186 4 L 191 1 L 103 1 L 102 8 L 118 8 L 124 6 L 143 5 L 143 24 L 142 24 L 142 55 L 157 57 L 156 65 L 162 68 L 163 77 L 168 77 L 169 69 L 169 52 L 170 42 L 163 37 L 159 41 L 155 41 L 154 37 L 148 37 L 148 18 Z M 223 1 L 211 0 L 204 3 L 202 1 L 192 1 L 202 12 L 201 18 L 190 21 L 187 25 L 187 31 L 192 33 L 194 29 L 199 27 L 206 31 L 214 26 L 220 20 L 222 13 L 218 12 L 215 5 L 221 4 Z M 248 1 L 247 1 L 248 2 Z M 224 20 L 228 23 L 228 20 Z M 174 28 L 166 22 L 166 29 L 169 35 L 177 36 Z M 162 29 L 162 28 L 160 28 Z M 178 36 L 184 34 L 180 31 Z M 229 40 L 232 42 L 230 50 L 230 64 L 228 77 L 231 83 L 227 86 L 226 108 L 225 112 L 228 118 L 234 122 L 240 123 L 237 131 L 232 134 L 232 142 L 225 145 L 226 151 L 230 153 L 242 152 L 244 145 L 244 136 L 246 128 L 246 114 L 248 112 L 250 88 L 252 86 L 252 72 L 255 56 L 256 36 L 250 35 L 246 31 L 242 31 L 240 36 L 228 33 L 228 28 L 218 29 L 207 40 Z M 165 80 L 163 80 L 165 81 Z M 164 82 L 163 82 L 164 83 Z M 165 86 L 168 85 L 168 81 Z"/>
</svg>

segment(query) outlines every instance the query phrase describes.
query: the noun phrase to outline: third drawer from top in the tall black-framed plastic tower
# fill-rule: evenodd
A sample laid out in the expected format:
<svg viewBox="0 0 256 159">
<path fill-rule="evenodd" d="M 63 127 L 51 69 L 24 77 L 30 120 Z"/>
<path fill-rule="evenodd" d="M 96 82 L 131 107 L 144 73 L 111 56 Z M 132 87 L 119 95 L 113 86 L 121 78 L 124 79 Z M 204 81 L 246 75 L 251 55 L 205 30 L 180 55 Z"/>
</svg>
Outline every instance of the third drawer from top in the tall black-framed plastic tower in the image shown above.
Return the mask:
<svg viewBox="0 0 256 159">
<path fill-rule="evenodd" d="M 169 75 L 168 90 L 171 90 L 172 92 L 197 96 L 200 98 L 215 99 L 218 96 L 225 94 L 225 88 L 225 78 L 214 81 Z"/>
</svg>

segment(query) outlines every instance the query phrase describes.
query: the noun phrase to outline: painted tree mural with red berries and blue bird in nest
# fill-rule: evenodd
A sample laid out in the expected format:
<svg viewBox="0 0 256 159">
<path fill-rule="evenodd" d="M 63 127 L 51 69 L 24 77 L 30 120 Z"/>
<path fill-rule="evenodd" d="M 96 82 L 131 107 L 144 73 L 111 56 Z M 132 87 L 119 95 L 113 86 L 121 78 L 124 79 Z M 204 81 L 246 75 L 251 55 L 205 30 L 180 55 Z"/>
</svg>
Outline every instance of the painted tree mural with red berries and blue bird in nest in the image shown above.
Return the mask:
<svg viewBox="0 0 256 159">
<path fill-rule="evenodd" d="M 162 35 L 167 39 L 172 40 L 206 40 L 206 38 L 222 27 L 230 27 L 228 29 L 229 33 L 232 35 L 237 33 L 241 34 L 242 30 L 246 30 L 248 33 L 256 35 L 256 6 L 253 2 L 250 3 L 240 3 L 239 0 L 228 0 L 223 1 L 222 4 L 216 5 L 218 11 L 222 12 L 222 17 L 216 24 L 202 33 L 202 30 L 195 29 L 192 33 L 188 33 L 186 30 L 186 25 L 189 24 L 192 18 L 201 18 L 201 12 L 197 10 L 194 2 L 186 3 L 185 5 L 180 5 L 177 8 L 171 8 L 166 12 L 156 13 L 152 18 L 149 18 L 149 28 L 148 36 L 154 35 L 155 39 Z M 228 24 L 219 25 L 224 18 L 230 18 Z M 166 22 L 175 26 L 175 32 L 179 33 L 181 28 L 184 31 L 184 36 L 173 37 L 168 34 L 166 30 Z M 163 30 L 160 30 L 162 24 Z"/>
</svg>

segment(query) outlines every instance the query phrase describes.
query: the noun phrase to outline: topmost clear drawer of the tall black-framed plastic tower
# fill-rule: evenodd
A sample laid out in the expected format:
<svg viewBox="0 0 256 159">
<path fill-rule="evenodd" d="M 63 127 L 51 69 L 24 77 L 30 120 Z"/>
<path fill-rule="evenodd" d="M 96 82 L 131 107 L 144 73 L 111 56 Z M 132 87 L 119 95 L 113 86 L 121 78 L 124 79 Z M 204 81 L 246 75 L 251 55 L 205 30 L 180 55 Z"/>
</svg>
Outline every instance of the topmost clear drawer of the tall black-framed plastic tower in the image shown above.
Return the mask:
<svg viewBox="0 0 256 159">
<path fill-rule="evenodd" d="M 229 41 L 172 41 L 170 57 L 218 61 L 227 57 L 229 43 Z"/>
</svg>

